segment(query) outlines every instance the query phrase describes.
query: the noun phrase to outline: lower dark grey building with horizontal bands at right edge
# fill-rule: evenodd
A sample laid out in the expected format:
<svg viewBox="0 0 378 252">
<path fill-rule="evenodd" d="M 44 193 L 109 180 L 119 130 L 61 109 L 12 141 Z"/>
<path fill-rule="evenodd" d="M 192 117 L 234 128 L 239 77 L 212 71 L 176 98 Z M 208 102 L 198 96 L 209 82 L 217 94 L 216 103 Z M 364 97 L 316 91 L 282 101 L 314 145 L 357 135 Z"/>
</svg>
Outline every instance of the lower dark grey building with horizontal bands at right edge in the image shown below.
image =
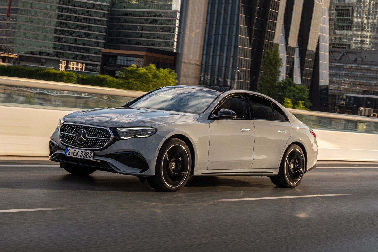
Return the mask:
<svg viewBox="0 0 378 252">
<path fill-rule="evenodd" d="M 329 97 L 332 112 L 378 113 L 378 51 L 331 48 Z"/>
</svg>

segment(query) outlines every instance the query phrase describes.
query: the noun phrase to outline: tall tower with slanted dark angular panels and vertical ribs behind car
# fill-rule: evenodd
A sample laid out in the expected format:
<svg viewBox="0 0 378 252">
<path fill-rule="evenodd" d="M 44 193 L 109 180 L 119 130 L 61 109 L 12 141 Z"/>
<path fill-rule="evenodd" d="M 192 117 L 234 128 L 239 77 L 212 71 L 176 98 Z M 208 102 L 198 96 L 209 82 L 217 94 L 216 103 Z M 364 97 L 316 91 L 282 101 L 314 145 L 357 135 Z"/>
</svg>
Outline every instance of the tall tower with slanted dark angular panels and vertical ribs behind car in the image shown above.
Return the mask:
<svg viewBox="0 0 378 252">
<path fill-rule="evenodd" d="M 281 78 L 305 85 L 313 110 L 328 110 L 329 0 L 201 1 L 205 13 L 197 2 L 181 7 L 180 84 L 257 91 L 264 51 L 279 46 Z"/>
</svg>

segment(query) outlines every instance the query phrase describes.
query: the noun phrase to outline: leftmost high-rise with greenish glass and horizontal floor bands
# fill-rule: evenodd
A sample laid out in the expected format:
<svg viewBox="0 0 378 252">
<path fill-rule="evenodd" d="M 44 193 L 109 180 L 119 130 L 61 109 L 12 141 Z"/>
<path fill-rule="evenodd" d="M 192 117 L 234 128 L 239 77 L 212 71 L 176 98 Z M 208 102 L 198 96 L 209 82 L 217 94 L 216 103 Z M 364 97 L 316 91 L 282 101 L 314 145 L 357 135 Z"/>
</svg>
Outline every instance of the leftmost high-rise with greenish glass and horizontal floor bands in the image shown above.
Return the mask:
<svg viewBox="0 0 378 252">
<path fill-rule="evenodd" d="M 54 66 L 60 60 L 98 66 L 105 46 L 108 0 L 0 2 L 0 51 L 20 65 Z"/>
</svg>

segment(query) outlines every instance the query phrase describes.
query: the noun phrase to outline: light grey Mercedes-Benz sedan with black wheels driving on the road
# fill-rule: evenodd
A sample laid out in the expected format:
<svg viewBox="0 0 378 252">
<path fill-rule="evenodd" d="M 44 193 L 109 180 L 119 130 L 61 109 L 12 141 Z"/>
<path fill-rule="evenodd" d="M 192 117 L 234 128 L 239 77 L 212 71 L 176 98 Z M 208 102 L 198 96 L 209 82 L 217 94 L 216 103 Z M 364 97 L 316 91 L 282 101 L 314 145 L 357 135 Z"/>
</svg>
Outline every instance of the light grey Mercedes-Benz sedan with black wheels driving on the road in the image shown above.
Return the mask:
<svg viewBox="0 0 378 252">
<path fill-rule="evenodd" d="M 315 133 L 265 95 L 218 87 L 163 87 L 121 107 L 59 120 L 50 160 L 76 175 L 134 175 L 156 190 L 189 176 L 268 176 L 296 187 L 316 167 Z"/>
</svg>

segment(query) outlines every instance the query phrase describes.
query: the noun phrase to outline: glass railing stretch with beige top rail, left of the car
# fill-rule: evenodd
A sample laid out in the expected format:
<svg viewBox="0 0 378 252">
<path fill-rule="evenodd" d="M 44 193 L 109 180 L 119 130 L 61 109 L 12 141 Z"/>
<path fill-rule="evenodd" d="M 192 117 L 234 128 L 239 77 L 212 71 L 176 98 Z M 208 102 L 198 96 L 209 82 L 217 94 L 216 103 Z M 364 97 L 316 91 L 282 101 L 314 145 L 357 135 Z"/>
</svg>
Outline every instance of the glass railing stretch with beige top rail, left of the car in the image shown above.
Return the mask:
<svg viewBox="0 0 378 252">
<path fill-rule="evenodd" d="M 122 106 L 125 102 L 143 94 L 136 91 L 43 80 L 31 80 L 28 83 L 22 81 L 28 79 L 4 76 L 0 77 L 0 82 L 4 83 L 5 79 L 16 82 L 11 85 L 0 84 L 0 105 L 81 110 Z M 22 85 L 16 86 L 19 80 Z M 46 88 L 49 86 L 51 88 Z"/>
</svg>

